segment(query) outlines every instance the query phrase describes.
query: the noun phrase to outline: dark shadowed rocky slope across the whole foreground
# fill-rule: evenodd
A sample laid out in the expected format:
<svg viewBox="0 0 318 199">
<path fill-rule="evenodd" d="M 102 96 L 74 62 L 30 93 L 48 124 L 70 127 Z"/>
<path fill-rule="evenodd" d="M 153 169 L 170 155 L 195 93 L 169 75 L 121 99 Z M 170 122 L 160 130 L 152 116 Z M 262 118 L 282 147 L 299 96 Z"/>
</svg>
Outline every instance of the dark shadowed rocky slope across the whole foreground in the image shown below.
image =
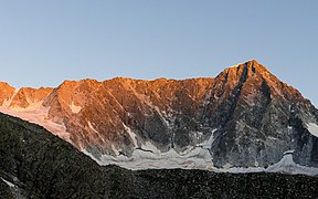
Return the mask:
<svg viewBox="0 0 318 199">
<path fill-rule="evenodd" d="M 0 198 L 317 198 L 318 179 L 98 166 L 43 127 L 0 114 Z"/>
</svg>

